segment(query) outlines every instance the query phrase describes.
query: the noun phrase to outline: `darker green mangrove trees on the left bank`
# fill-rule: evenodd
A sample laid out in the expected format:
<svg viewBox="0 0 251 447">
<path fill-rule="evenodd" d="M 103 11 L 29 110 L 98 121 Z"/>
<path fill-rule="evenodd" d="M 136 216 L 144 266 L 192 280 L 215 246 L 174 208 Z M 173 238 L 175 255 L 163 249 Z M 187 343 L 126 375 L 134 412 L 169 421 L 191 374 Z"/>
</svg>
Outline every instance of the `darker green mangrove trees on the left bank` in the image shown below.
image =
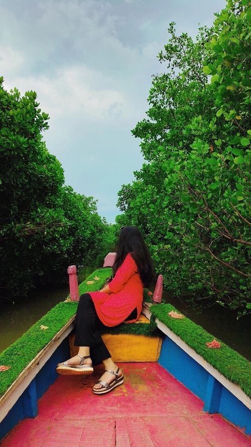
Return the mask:
<svg viewBox="0 0 251 447">
<path fill-rule="evenodd" d="M 67 280 L 71 264 L 95 264 L 112 230 L 92 197 L 63 186 L 64 172 L 42 139 L 48 115 L 35 92 L 8 93 L 0 78 L 0 287 L 24 295 Z M 10 281 L 11 278 L 11 281 Z"/>
</svg>

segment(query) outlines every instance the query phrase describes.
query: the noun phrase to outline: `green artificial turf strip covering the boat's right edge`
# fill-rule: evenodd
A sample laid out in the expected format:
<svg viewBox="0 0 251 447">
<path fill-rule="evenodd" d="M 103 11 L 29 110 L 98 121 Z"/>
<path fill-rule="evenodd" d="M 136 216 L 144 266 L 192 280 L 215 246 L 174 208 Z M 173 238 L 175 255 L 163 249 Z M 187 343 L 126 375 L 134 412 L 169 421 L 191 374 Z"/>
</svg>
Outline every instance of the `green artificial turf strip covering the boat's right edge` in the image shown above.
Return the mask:
<svg viewBox="0 0 251 447">
<path fill-rule="evenodd" d="M 251 363 L 247 359 L 218 339 L 217 341 L 221 343 L 220 348 L 207 347 L 206 342 L 212 341 L 213 335 L 186 317 L 171 318 L 168 313 L 172 310 L 177 311 L 171 304 L 154 305 L 150 310 L 155 318 L 178 335 L 226 379 L 239 385 L 242 391 L 251 398 Z"/>
</svg>

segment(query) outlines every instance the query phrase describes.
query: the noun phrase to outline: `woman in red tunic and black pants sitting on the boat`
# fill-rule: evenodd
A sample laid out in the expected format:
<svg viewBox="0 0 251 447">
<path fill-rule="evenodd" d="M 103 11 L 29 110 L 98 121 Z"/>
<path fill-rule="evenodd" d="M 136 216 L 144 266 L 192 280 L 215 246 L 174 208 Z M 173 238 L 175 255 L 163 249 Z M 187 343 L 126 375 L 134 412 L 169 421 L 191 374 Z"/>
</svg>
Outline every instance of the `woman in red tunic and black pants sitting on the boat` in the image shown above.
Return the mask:
<svg viewBox="0 0 251 447">
<path fill-rule="evenodd" d="M 103 363 L 105 372 L 92 389 L 95 394 L 106 394 L 123 383 L 122 371 L 113 362 L 98 325 L 135 322 L 142 310 L 143 288 L 154 277 L 149 251 L 136 227 L 121 228 L 112 271 L 113 280 L 107 286 L 81 295 L 74 341 L 78 354 L 57 366 L 59 374 L 91 374 L 93 366 Z"/>
</svg>

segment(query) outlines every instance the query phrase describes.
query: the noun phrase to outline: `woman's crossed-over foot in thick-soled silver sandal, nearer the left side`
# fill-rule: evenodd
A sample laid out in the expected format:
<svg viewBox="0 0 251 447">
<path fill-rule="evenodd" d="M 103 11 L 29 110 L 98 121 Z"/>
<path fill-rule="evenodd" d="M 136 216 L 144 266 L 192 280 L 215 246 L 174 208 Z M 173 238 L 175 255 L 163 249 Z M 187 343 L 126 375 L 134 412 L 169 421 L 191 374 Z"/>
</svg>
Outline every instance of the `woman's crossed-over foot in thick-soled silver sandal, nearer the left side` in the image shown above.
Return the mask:
<svg viewBox="0 0 251 447">
<path fill-rule="evenodd" d="M 56 371 L 62 375 L 92 374 L 93 366 L 89 355 L 82 357 L 81 355 L 77 354 L 66 362 L 59 363 Z"/>
</svg>

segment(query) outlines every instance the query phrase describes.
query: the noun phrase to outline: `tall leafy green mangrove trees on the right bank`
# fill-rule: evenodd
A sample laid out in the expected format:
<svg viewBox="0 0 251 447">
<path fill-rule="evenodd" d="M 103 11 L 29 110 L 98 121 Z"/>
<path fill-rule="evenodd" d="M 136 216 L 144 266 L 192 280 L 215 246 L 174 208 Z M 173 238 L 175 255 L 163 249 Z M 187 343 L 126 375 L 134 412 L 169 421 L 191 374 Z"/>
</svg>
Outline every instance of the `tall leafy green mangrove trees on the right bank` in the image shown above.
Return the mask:
<svg viewBox="0 0 251 447">
<path fill-rule="evenodd" d="M 148 119 L 132 131 L 148 161 L 123 186 L 122 224 L 137 225 L 166 288 L 190 303 L 249 309 L 250 7 L 227 2 L 214 26 L 159 54 Z"/>
</svg>

